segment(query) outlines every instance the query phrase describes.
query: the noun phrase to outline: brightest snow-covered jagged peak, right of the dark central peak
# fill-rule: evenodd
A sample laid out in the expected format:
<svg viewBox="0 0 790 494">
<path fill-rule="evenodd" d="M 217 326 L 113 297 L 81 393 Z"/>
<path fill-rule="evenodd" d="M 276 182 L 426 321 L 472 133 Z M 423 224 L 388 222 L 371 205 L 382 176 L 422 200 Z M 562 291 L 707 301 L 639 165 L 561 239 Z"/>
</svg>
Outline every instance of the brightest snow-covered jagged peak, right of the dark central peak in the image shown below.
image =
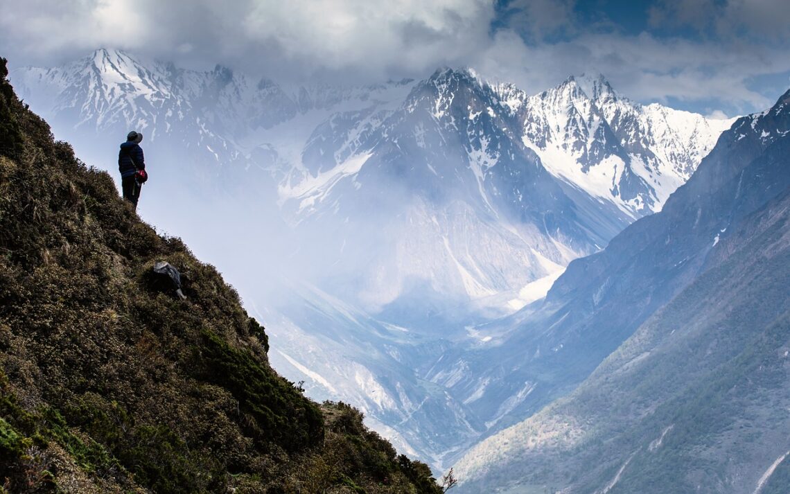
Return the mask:
<svg viewBox="0 0 790 494">
<path fill-rule="evenodd" d="M 525 145 L 552 174 L 633 218 L 659 211 L 732 125 L 631 102 L 603 76 L 569 77 L 521 111 Z"/>
</svg>

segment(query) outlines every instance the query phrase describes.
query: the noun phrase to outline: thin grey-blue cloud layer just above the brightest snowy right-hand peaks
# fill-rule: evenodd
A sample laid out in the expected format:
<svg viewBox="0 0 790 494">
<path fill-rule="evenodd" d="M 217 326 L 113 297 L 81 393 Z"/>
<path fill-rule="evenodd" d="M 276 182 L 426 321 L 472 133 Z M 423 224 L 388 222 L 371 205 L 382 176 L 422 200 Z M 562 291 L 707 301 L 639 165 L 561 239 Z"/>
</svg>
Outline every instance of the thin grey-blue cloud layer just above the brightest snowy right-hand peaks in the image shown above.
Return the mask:
<svg viewBox="0 0 790 494">
<path fill-rule="evenodd" d="M 762 110 L 787 89 L 766 96 L 751 89 L 750 81 L 788 70 L 790 51 L 781 45 L 662 39 L 648 33 L 583 34 L 532 46 L 503 31 L 477 63 L 481 74 L 514 81 L 529 93 L 557 85 L 570 74 L 602 73 L 633 100 L 674 100 L 696 111 L 735 115 Z M 692 104 L 704 101 L 709 106 L 710 100 L 717 100 L 719 107 L 708 110 Z"/>
</svg>

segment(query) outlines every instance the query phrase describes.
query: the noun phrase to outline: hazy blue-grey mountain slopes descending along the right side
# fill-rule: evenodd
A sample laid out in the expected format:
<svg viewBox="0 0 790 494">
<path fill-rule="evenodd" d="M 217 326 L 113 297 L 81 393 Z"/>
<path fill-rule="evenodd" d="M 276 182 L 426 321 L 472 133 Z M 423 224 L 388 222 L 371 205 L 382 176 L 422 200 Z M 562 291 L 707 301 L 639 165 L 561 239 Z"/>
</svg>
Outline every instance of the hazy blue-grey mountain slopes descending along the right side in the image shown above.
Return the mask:
<svg viewBox="0 0 790 494">
<path fill-rule="evenodd" d="M 661 213 L 571 263 L 518 315 L 502 365 L 521 362 L 537 388 L 608 357 L 473 448 L 461 492 L 786 491 L 788 156 L 790 92 L 725 132 Z"/>
</svg>

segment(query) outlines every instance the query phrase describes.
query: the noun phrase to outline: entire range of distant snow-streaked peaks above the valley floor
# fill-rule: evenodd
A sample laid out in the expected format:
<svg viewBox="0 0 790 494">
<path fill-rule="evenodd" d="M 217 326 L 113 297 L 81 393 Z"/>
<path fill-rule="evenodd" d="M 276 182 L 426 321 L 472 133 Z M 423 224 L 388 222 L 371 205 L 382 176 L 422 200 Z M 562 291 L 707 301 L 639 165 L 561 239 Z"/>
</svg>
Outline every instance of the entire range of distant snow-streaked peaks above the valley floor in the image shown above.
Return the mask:
<svg viewBox="0 0 790 494">
<path fill-rule="evenodd" d="M 421 82 L 294 89 L 108 50 L 11 77 L 85 159 L 107 162 L 134 126 L 166 164 L 154 169 L 160 182 L 235 193 L 258 183 L 276 190 L 292 224 L 330 214 L 350 224 L 325 255 L 361 277 L 355 291 L 374 310 L 421 283 L 461 299 L 511 292 L 491 302 L 499 307 L 533 300 L 517 291 L 547 285 L 571 259 L 660 210 L 731 123 L 635 104 L 603 77 L 570 77 L 536 96 L 449 69 Z M 342 252 L 370 236 L 359 217 L 371 213 L 394 223 L 378 243 L 391 248 L 369 259 L 383 284 L 378 273 L 356 274 L 359 251 Z"/>
</svg>

